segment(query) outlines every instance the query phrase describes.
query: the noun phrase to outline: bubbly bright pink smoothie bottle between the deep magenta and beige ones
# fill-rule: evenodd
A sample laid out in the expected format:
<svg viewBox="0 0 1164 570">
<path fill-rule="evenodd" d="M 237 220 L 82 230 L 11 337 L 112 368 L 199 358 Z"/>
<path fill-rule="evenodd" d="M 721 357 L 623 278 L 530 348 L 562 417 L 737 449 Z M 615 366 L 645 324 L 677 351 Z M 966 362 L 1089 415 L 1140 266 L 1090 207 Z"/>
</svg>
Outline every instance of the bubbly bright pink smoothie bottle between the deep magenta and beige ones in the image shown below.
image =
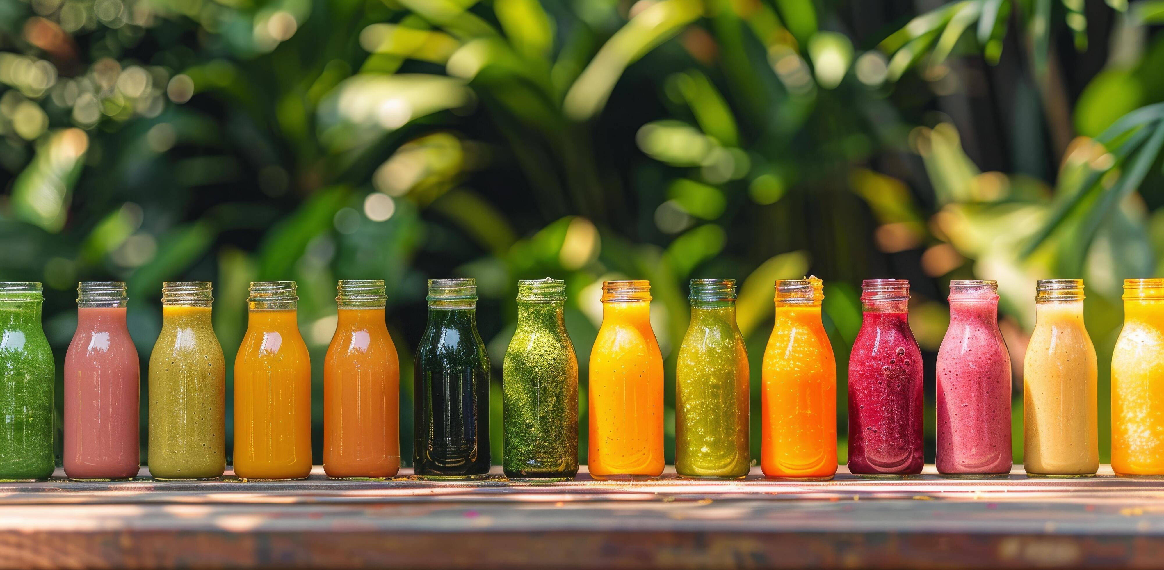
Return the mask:
<svg viewBox="0 0 1164 570">
<path fill-rule="evenodd" d="M 950 328 L 937 363 L 937 468 L 1010 472 L 1010 356 L 999 330 L 998 282 L 950 282 Z"/>
</svg>

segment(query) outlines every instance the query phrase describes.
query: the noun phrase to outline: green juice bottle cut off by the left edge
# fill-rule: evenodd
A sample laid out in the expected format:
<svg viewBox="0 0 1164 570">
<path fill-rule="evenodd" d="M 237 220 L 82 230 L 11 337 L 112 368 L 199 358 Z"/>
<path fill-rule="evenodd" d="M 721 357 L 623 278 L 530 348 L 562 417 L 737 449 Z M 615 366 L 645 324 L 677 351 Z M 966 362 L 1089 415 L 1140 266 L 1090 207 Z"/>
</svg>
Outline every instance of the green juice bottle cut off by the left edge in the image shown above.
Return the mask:
<svg viewBox="0 0 1164 570">
<path fill-rule="evenodd" d="M 47 479 L 56 366 L 40 283 L 0 283 L 0 479 Z"/>
</svg>

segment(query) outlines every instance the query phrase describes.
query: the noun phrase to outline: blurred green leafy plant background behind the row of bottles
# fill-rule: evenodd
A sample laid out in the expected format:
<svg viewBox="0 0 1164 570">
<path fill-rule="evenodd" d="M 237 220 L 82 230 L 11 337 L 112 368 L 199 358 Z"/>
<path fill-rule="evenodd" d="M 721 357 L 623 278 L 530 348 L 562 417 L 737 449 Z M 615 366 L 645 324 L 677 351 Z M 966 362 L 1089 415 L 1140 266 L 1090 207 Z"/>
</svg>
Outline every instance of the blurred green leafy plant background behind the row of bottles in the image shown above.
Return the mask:
<svg viewBox="0 0 1164 570">
<path fill-rule="evenodd" d="M 335 280 L 388 282 L 409 457 L 425 280 L 475 277 L 497 463 L 517 279 L 567 280 L 583 386 L 601 282 L 650 279 L 668 406 L 687 280 L 737 279 L 758 454 L 773 280 L 824 278 L 843 458 L 860 280 L 908 278 L 932 459 L 947 282 L 1000 282 L 1017 364 L 1035 279 L 1083 277 L 1106 458 L 1121 279 L 1164 252 L 1162 21 L 1159 0 L 9 0 L 0 278 L 45 284 L 58 363 L 77 280 L 128 283 L 143 362 L 162 282 L 213 280 L 228 364 L 248 283 L 297 280 L 318 461 Z"/>
</svg>

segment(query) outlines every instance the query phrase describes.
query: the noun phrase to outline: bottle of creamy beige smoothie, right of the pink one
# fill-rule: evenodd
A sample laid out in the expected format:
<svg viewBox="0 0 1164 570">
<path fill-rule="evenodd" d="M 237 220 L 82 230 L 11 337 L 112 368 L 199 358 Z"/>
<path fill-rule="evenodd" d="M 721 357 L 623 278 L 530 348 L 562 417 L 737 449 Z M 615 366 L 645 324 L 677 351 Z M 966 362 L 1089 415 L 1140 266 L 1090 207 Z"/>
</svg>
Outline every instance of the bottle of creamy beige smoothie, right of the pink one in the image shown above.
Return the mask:
<svg viewBox="0 0 1164 570">
<path fill-rule="evenodd" d="M 1095 347 L 1084 326 L 1083 279 L 1036 284 L 1023 359 L 1027 475 L 1090 477 L 1099 469 Z"/>
</svg>

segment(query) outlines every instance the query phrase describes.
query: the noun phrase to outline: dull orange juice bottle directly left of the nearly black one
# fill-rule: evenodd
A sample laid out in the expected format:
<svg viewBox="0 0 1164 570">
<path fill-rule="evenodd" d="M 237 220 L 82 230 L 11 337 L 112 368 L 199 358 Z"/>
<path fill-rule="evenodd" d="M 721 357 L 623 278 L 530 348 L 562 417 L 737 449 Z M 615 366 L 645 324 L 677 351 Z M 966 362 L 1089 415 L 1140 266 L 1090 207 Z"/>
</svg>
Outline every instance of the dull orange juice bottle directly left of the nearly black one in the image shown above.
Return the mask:
<svg viewBox="0 0 1164 570">
<path fill-rule="evenodd" d="M 400 470 L 400 362 L 384 325 L 384 282 L 342 280 L 339 292 L 324 359 L 324 472 L 392 477 Z"/>
</svg>

